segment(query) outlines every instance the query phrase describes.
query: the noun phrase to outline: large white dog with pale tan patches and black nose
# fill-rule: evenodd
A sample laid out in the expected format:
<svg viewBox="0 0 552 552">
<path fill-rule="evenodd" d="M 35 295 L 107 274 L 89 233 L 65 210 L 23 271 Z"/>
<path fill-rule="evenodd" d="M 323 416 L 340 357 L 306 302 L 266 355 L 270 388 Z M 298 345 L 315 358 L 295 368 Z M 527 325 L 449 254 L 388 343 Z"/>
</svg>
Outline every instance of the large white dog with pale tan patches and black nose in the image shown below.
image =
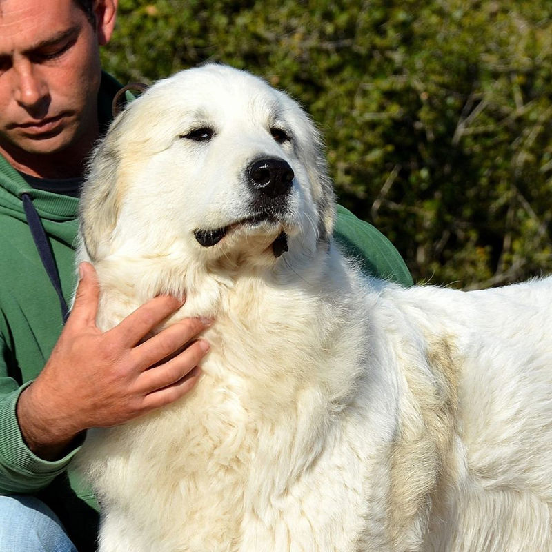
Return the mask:
<svg viewBox="0 0 552 552">
<path fill-rule="evenodd" d="M 102 552 L 552 550 L 552 279 L 366 279 L 297 103 L 224 66 L 152 86 L 82 197 L 98 324 L 207 316 L 179 402 L 90 432 Z"/>
</svg>

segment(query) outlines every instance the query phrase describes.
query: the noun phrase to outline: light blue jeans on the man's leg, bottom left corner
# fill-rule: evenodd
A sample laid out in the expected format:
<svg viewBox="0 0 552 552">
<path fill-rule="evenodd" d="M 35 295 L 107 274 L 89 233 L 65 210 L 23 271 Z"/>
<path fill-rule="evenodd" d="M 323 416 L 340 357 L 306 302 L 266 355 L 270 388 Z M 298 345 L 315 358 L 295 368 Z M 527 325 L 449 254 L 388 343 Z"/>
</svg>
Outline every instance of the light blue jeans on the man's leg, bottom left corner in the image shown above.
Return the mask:
<svg viewBox="0 0 552 552">
<path fill-rule="evenodd" d="M 1 552 L 77 552 L 57 515 L 26 495 L 0 496 Z"/>
</svg>

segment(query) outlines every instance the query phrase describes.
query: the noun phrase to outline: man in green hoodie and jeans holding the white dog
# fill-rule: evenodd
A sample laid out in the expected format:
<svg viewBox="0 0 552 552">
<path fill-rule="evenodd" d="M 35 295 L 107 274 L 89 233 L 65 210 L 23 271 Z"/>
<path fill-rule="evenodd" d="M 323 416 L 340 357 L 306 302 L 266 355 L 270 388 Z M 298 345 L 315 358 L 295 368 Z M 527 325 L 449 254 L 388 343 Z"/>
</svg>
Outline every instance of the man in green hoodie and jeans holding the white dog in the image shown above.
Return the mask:
<svg viewBox="0 0 552 552">
<path fill-rule="evenodd" d="M 179 399 L 208 351 L 209 320 L 143 340 L 181 306 L 174 297 L 101 333 L 88 264 L 63 326 L 83 167 L 118 89 L 99 63 L 116 12 L 117 0 L 0 0 L 2 551 L 95 549 L 97 504 L 71 464 L 86 430 Z M 341 208 L 337 237 L 368 272 L 411 283 L 393 246 Z"/>
</svg>

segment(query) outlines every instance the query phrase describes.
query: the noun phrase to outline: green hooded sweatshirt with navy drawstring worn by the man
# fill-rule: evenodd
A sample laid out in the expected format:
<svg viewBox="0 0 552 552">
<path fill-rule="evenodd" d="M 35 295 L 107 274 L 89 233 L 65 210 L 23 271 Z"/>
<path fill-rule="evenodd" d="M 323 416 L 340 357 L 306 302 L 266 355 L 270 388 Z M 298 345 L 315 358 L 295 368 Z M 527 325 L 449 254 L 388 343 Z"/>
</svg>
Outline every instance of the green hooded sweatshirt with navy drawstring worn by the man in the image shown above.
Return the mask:
<svg viewBox="0 0 552 552">
<path fill-rule="evenodd" d="M 99 92 L 103 127 L 119 86 L 103 75 Z M 93 551 L 97 504 L 71 465 L 79 444 L 59 460 L 42 460 L 26 446 L 15 415 L 19 394 L 46 364 L 63 327 L 59 299 L 28 228 L 23 193 L 30 195 L 41 217 L 67 302 L 76 283 L 78 199 L 31 188 L 0 156 L 0 494 L 37 495 L 59 515 L 77 549 Z M 368 274 L 412 284 L 391 242 L 348 210 L 339 206 L 337 212 L 335 235 Z"/>
</svg>

